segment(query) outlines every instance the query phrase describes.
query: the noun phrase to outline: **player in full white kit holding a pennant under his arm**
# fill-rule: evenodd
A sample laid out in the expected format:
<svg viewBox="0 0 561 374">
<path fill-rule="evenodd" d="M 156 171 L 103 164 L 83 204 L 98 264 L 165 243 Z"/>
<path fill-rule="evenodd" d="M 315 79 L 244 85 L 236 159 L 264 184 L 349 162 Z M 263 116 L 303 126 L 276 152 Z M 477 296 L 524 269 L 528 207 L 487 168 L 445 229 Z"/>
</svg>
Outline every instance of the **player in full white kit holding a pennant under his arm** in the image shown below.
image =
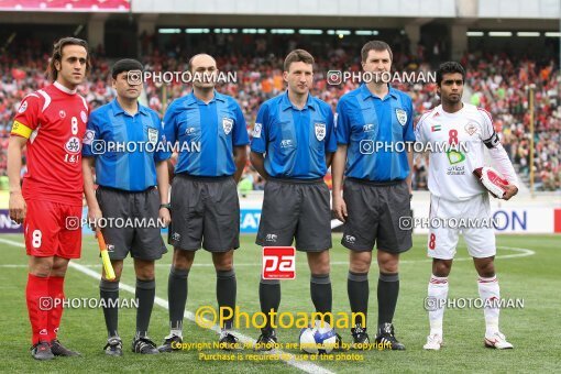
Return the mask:
<svg viewBox="0 0 561 374">
<path fill-rule="evenodd" d="M 417 141 L 427 148 L 440 151 L 446 144 L 444 152 L 429 155 L 430 222 L 440 224 L 430 228 L 428 238 L 427 251 L 433 261 L 426 305 L 430 321 L 427 350 L 439 350 L 442 344 L 448 276 L 460 233 L 479 273 L 486 324 L 485 346 L 513 348 L 498 329 L 499 287 L 494 266 L 496 246 L 488 193 L 472 173 L 485 166 L 484 147 L 487 147 L 497 169 L 508 180 L 508 185 L 503 186 L 505 200 L 518 193 L 517 178 L 493 128 L 491 114 L 462 102 L 464 77 L 465 70 L 460 64 L 440 65 L 437 90 L 441 105 L 425 113 L 415 130 Z"/>
</svg>

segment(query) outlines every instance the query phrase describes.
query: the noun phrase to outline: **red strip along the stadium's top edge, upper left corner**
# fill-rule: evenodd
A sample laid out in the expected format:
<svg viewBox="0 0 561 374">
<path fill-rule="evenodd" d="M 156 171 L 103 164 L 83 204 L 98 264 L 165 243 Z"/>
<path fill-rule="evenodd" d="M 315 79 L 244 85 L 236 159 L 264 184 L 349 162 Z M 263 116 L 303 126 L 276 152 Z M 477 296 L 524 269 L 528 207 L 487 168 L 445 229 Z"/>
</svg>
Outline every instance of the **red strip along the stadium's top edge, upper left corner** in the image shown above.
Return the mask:
<svg viewBox="0 0 561 374">
<path fill-rule="evenodd" d="M 0 0 L 0 11 L 128 12 L 130 0 Z"/>
</svg>

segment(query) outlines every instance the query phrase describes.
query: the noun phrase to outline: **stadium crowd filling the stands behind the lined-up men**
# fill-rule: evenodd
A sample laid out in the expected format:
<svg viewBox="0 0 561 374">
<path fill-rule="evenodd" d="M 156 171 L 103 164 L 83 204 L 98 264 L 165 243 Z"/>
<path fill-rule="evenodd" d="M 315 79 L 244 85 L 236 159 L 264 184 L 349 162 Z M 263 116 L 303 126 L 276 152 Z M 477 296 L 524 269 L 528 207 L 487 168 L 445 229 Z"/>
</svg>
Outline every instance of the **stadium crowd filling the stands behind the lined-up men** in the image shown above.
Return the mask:
<svg viewBox="0 0 561 374">
<path fill-rule="evenodd" d="M 242 107 L 249 131 L 253 127 L 260 105 L 284 90 L 283 61 L 287 51 L 300 47 L 288 35 L 284 40 L 265 40 L 248 37 L 234 41 L 232 35 L 208 34 L 209 40 L 199 40 L 200 45 L 191 45 L 190 51 L 206 51 L 217 56 L 219 69 L 235 72 L 237 81 L 217 87 L 221 92 L 235 97 Z M 237 44 L 238 43 L 238 44 Z M 189 53 L 178 47 L 158 48 L 148 43 L 143 45 L 145 69 L 151 72 L 187 72 Z M 170 43 L 173 45 L 173 43 Z M 209 47 L 205 48 L 207 45 Z M 329 85 L 328 70 L 360 72 L 360 46 L 356 43 L 331 45 L 328 42 L 304 45 L 316 57 L 314 95 L 333 107 L 345 92 L 359 84 L 348 80 L 341 85 Z M 435 56 L 411 56 L 407 41 L 397 37 L 391 45 L 394 48 L 393 68 L 396 72 L 431 70 L 428 62 Z M 11 122 L 20 100 L 33 90 L 43 87 L 47 80 L 45 67 L 48 54 L 34 42 L 18 47 L 18 53 L 0 54 L 0 175 L 6 175 L 7 146 Z M 421 51 L 421 50 L 419 50 Z M 109 80 L 111 59 L 102 51 L 92 53 L 92 69 L 87 82 L 79 92 L 86 97 L 92 109 L 108 102 L 114 97 Z M 480 106 L 493 114 L 497 132 L 503 134 L 503 143 L 510 155 L 519 175 L 527 180 L 529 176 L 529 123 L 528 87 L 535 85 L 535 177 L 536 186 L 541 190 L 561 189 L 561 107 L 559 85 L 561 84 L 557 66 L 552 61 L 514 58 L 508 55 L 486 55 L 482 53 L 465 54 L 461 63 L 465 66 L 466 86 L 471 92 L 464 100 Z M 415 106 L 417 116 L 431 109 L 438 102 L 436 85 L 432 82 L 398 82 L 394 87 L 407 91 Z M 466 91 L 468 91 L 466 89 Z M 163 113 L 169 102 L 190 91 L 190 86 L 180 81 L 160 85 L 152 80 L 145 82 L 147 105 Z M 250 132 L 251 134 L 251 132 Z M 427 188 L 427 161 L 416 156 L 414 163 L 414 188 Z M 257 173 L 248 167 L 245 178 L 251 189 L 262 189 L 263 180 Z M 245 183 L 245 188 L 250 184 Z"/>
</svg>

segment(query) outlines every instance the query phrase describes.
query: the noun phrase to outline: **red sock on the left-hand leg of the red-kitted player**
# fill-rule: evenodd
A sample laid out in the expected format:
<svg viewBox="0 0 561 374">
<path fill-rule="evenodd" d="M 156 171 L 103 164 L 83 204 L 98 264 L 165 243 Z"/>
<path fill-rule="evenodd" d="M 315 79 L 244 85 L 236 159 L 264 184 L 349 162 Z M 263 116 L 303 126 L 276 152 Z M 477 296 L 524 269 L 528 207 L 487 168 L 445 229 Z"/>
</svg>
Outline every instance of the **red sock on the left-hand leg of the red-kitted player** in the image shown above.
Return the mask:
<svg viewBox="0 0 561 374">
<path fill-rule="evenodd" d="M 53 300 L 48 301 L 48 277 L 29 274 L 25 298 L 33 333 L 32 344 L 35 345 L 50 338 L 48 310 L 53 307 Z"/>
</svg>

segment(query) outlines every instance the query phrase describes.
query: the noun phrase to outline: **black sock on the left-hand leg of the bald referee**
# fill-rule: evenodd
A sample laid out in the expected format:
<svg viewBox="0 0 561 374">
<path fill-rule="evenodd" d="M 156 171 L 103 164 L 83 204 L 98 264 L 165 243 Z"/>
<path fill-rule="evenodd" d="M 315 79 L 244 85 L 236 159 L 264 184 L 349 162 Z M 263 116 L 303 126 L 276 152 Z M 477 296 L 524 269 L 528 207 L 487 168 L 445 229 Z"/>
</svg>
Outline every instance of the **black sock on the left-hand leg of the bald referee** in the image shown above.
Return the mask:
<svg viewBox="0 0 561 374">
<path fill-rule="evenodd" d="M 167 280 L 167 299 L 169 300 L 169 329 L 170 333 L 183 338 L 183 318 L 187 302 L 189 270 L 169 270 Z"/>
</svg>

